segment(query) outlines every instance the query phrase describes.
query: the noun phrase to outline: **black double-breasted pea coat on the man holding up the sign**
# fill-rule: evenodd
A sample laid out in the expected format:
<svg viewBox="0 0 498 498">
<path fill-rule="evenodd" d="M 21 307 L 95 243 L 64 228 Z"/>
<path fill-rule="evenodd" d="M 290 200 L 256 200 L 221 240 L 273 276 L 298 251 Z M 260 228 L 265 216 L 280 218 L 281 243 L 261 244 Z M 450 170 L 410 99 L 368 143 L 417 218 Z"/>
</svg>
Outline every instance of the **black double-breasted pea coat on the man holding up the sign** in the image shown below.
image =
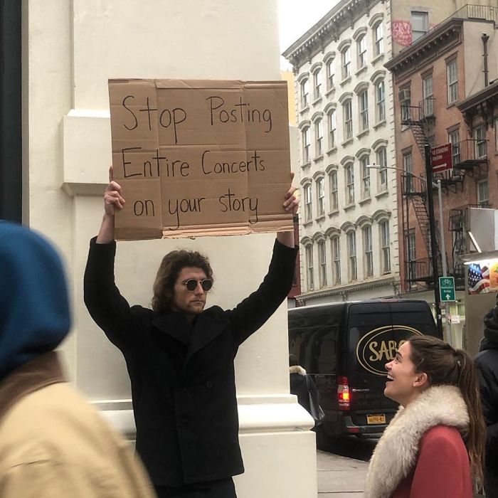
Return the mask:
<svg viewBox="0 0 498 498">
<path fill-rule="evenodd" d="M 181 487 L 241 474 L 233 360 L 287 297 L 297 248 L 276 241 L 258 290 L 234 309 L 204 310 L 193 328 L 179 313 L 129 307 L 115 285 L 115 250 L 90 241 L 85 304 L 126 360 L 137 452 L 152 482 Z"/>
</svg>

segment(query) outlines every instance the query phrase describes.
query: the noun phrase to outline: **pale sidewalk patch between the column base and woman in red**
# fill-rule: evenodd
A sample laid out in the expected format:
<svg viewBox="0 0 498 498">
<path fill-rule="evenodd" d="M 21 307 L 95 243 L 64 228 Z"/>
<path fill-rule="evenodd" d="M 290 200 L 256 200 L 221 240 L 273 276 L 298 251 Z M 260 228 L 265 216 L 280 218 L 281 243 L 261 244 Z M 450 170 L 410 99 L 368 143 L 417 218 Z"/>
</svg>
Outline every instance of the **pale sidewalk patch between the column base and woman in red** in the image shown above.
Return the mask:
<svg viewBox="0 0 498 498">
<path fill-rule="evenodd" d="M 368 467 L 368 462 L 318 450 L 318 498 L 363 497 Z"/>
</svg>

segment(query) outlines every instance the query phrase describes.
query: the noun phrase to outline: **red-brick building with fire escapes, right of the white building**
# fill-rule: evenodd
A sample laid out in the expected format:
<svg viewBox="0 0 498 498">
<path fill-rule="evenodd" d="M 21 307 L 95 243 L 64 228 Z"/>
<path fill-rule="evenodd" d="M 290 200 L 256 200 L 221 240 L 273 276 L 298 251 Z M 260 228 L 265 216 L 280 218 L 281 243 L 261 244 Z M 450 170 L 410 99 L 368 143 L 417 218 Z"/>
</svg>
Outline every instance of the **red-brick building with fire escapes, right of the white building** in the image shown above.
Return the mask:
<svg viewBox="0 0 498 498">
<path fill-rule="evenodd" d="M 452 169 L 433 174 L 431 180 L 440 180 L 442 186 L 447 272 L 455 276 L 460 291 L 460 304 L 454 305 L 452 314 L 459 315 L 465 315 L 461 302 L 465 278 L 462 265 L 455 261 L 465 252 L 465 207 L 495 207 L 498 202 L 495 141 L 490 131 L 494 126 L 494 107 L 489 108 L 493 92 L 492 87 L 484 90 L 484 64 L 488 81 L 498 75 L 494 57 L 497 16 L 498 9 L 490 6 L 465 6 L 386 63 L 393 75 L 396 167 L 404 171 L 398 174 L 401 291 L 409 295 L 419 292 L 418 297 L 434 302 L 427 183 L 420 178 L 425 177 L 423 144 L 450 143 Z M 484 58 L 484 40 L 492 57 Z M 483 106 L 489 109 L 486 118 L 481 116 Z M 441 275 L 443 240 L 437 189 L 433 189 L 433 198 Z"/>
</svg>

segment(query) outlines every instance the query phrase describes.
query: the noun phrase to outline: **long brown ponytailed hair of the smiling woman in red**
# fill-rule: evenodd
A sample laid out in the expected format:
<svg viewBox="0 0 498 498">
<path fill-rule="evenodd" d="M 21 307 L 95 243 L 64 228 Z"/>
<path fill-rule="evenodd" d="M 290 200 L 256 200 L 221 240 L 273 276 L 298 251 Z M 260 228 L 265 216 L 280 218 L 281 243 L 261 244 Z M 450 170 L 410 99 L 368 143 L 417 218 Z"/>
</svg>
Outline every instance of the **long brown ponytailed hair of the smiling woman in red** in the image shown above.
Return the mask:
<svg viewBox="0 0 498 498">
<path fill-rule="evenodd" d="M 450 385 L 460 388 L 469 413 L 469 429 L 462 437 L 469 453 L 472 476 L 482 483 L 486 425 L 474 362 L 463 349 L 454 349 L 435 337 L 413 336 L 408 341 L 415 371 L 425 372 L 430 386 Z"/>
</svg>

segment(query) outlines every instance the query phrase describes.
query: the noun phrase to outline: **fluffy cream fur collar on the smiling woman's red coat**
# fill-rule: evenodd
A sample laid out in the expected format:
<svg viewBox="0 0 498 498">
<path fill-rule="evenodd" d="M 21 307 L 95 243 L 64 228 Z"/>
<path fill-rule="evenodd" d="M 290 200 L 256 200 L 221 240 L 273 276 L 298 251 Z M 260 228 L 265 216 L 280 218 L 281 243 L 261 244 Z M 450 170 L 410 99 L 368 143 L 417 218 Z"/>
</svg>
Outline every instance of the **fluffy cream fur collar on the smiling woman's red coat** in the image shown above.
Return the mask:
<svg viewBox="0 0 498 498">
<path fill-rule="evenodd" d="M 435 425 L 465 432 L 467 406 L 456 386 L 433 386 L 407 408 L 400 407 L 378 441 L 366 475 L 366 498 L 388 498 L 407 477 L 418 454 L 422 436 Z"/>
</svg>

